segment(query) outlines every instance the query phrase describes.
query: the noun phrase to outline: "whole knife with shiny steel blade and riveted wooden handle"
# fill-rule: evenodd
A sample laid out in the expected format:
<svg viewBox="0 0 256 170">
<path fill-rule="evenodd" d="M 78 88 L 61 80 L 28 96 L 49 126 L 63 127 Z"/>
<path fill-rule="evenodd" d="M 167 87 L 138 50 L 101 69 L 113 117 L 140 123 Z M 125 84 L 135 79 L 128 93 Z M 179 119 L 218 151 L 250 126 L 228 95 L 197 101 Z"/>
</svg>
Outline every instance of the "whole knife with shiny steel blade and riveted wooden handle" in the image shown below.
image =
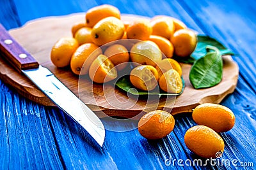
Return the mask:
<svg viewBox="0 0 256 170">
<path fill-rule="evenodd" d="M 40 66 L 34 57 L 26 52 L 1 24 L 0 35 L 1 56 L 33 81 L 56 106 L 80 124 L 102 146 L 105 139 L 105 129 L 95 113 L 65 87 L 49 69 Z"/>
</svg>

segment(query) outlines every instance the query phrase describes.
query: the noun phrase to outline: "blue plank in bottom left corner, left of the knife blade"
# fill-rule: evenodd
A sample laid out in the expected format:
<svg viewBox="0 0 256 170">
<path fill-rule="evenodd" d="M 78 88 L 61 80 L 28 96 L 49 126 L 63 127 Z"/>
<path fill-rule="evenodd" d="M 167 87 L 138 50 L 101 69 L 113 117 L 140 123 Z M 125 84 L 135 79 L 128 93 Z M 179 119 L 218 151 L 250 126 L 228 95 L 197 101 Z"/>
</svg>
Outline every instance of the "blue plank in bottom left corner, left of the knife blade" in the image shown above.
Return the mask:
<svg viewBox="0 0 256 170">
<path fill-rule="evenodd" d="M 0 131 L 3 136 L 0 160 L 4 162 L 1 164 L 3 169 L 61 168 L 44 106 L 20 97 L 0 83 Z"/>
</svg>

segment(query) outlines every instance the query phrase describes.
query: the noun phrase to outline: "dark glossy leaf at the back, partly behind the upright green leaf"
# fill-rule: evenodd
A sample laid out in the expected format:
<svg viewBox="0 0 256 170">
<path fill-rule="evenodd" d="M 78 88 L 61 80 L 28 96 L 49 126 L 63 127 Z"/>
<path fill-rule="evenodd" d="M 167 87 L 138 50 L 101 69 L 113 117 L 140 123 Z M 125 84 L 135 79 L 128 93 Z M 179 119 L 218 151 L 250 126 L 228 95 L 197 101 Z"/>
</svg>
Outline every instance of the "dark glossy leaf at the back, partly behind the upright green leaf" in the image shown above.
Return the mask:
<svg viewBox="0 0 256 170">
<path fill-rule="evenodd" d="M 178 60 L 179 62 L 184 63 L 190 63 L 193 64 L 195 60 L 200 59 L 201 57 L 204 57 L 204 55 L 207 53 L 206 46 L 215 46 L 220 50 L 221 55 L 234 55 L 234 53 L 226 48 L 224 45 L 222 45 L 218 40 L 211 38 L 209 36 L 204 35 L 198 35 L 198 43 L 196 45 L 195 51 L 191 54 L 189 57 L 177 57 L 174 56 L 173 58 L 175 60 Z"/>
</svg>

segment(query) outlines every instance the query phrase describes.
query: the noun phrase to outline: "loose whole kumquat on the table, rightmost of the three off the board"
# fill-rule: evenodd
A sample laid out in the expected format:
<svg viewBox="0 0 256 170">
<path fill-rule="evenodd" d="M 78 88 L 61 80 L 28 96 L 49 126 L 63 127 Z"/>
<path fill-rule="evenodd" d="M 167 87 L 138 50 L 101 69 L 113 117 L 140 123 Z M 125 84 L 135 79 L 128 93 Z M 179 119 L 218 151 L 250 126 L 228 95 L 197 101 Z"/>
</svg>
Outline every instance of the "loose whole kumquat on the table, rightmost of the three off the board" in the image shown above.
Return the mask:
<svg viewBox="0 0 256 170">
<path fill-rule="evenodd" d="M 192 114 L 198 125 L 211 127 L 216 132 L 227 132 L 235 124 L 235 115 L 227 107 L 220 104 L 204 103 L 196 106 Z"/>
</svg>

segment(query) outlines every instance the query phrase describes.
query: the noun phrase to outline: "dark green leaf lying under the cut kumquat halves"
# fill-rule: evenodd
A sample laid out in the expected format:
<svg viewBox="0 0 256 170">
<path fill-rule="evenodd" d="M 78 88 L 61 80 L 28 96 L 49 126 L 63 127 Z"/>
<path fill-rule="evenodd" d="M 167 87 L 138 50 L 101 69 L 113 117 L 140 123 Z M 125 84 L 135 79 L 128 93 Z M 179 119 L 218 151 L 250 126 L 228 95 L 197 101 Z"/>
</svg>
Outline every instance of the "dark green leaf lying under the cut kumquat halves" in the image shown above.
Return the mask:
<svg viewBox="0 0 256 170">
<path fill-rule="evenodd" d="M 130 94 L 133 95 L 158 95 L 159 97 L 161 96 L 179 96 L 180 94 L 182 94 L 182 92 L 184 91 L 185 88 L 185 81 L 183 79 L 183 77 L 181 77 L 182 80 L 182 90 L 179 94 L 172 94 L 172 93 L 168 93 L 168 92 L 164 92 L 163 90 L 158 91 L 157 88 L 156 90 L 152 90 L 152 91 L 143 91 L 143 90 L 139 90 L 139 89 L 135 89 L 135 87 L 132 85 L 130 79 L 129 79 L 129 75 L 127 76 L 123 76 L 122 78 L 120 78 L 118 81 L 116 81 L 115 85 L 117 87 L 119 87 L 120 89 L 124 90 L 125 92 L 129 92 Z"/>
</svg>

